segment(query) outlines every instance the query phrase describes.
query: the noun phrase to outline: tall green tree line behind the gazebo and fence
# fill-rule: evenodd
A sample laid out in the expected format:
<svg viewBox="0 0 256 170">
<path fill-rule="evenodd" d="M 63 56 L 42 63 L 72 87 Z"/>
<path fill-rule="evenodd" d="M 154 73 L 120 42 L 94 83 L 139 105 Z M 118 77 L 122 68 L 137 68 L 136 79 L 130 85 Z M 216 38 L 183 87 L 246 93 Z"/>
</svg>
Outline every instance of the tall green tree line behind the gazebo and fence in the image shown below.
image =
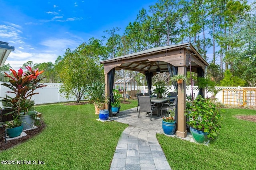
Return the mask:
<svg viewBox="0 0 256 170">
<path fill-rule="evenodd" d="M 158 0 L 149 10 L 142 8 L 122 35 L 119 27 L 113 27 L 104 31 L 102 39 L 92 37 L 74 51 L 66 49 L 54 64 L 29 61 L 23 67 L 27 64 L 45 70 L 45 82 L 49 83 L 72 84 L 72 79 L 82 83 L 87 79 L 77 84 L 82 89 L 89 80 L 104 80 L 99 61 L 190 42 L 210 63 L 207 74 L 214 81 L 228 86 L 256 86 L 255 14 L 254 2 L 249 5 L 246 0 Z M 135 72 L 119 72 L 116 78 L 124 75 L 135 76 L 139 85 L 143 77 Z M 234 83 L 225 84 L 225 75 L 234 78 Z"/>
</svg>

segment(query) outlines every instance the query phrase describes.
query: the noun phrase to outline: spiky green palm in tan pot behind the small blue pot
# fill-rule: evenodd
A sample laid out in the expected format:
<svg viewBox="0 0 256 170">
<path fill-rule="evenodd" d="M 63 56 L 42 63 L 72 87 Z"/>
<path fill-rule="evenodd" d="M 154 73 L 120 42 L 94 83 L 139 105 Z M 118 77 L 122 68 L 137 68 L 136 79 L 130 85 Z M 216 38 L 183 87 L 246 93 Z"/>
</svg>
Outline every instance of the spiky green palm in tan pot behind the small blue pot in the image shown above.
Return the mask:
<svg viewBox="0 0 256 170">
<path fill-rule="evenodd" d="M 94 103 L 95 114 L 100 113 L 100 109 L 105 109 L 108 98 L 105 95 L 105 83 L 100 81 L 92 82 L 91 86 L 86 87 L 89 100 Z"/>
</svg>

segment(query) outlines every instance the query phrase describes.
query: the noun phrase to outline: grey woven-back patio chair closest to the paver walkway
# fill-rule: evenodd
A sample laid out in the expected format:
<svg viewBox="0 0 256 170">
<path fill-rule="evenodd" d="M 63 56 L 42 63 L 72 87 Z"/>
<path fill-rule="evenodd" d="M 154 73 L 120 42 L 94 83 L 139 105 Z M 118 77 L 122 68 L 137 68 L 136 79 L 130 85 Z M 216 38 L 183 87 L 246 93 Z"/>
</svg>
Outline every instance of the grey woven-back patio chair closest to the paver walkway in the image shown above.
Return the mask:
<svg viewBox="0 0 256 170">
<path fill-rule="evenodd" d="M 140 109 L 139 109 L 139 115 L 140 118 L 140 111 L 145 111 L 150 113 L 150 120 L 152 120 L 152 112 L 157 110 L 158 108 L 154 104 L 151 104 L 151 99 L 149 96 L 138 96 L 140 101 Z"/>
</svg>

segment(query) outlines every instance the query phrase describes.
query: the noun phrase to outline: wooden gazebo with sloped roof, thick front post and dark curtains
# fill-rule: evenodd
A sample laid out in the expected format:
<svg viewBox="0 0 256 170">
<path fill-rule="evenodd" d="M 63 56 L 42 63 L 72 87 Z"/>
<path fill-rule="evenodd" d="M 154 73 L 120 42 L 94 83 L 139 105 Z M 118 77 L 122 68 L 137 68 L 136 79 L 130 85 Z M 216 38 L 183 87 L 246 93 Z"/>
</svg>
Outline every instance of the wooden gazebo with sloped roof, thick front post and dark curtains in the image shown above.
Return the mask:
<svg viewBox="0 0 256 170">
<path fill-rule="evenodd" d="M 114 86 L 115 70 L 132 70 L 138 71 L 146 75 L 148 90 L 151 92 L 152 76 L 159 72 L 170 72 L 170 75 L 184 74 L 187 71 L 196 72 L 198 77 L 203 77 L 206 66 L 209 64 L 196 51 L 191 43 L 180 43 L 174 45 L 167 45 L 163 47 L 156 47 L 137 53 L 132 53 L 120 57 L 115 57 L 105 61 L 105 91 L 110 98 L 112 98 L 112 90 Z M 204 94 L 204 89 L 200 89 L 200 94 Z M 111 99 L 113 100 L 113 99 Z M 110 104 L 106 106 L 110 109 Z M 178 137 L 186 137 L 186 116 L 184 111 L 186 109 L 186 82 L 178 84 L 178 118 L 177 131 Z"/>
</svg>

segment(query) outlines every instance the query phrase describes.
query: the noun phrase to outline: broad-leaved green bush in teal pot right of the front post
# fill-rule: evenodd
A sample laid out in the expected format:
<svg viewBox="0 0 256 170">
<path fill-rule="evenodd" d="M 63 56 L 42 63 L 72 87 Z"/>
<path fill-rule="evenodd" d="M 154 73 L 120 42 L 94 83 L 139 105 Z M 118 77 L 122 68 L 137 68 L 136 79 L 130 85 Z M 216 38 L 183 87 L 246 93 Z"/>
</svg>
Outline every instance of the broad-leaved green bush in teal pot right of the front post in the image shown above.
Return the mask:
<svg viewBox="0 0 256 170">
<path fill-rule="evenodd" d="M 188 125 L 208 133 L 214 139 L 220 132 L 220 109 L 210 99 L 198 95 L 194 102 L 187 101 L 185 114 Z"/>
</svg>

